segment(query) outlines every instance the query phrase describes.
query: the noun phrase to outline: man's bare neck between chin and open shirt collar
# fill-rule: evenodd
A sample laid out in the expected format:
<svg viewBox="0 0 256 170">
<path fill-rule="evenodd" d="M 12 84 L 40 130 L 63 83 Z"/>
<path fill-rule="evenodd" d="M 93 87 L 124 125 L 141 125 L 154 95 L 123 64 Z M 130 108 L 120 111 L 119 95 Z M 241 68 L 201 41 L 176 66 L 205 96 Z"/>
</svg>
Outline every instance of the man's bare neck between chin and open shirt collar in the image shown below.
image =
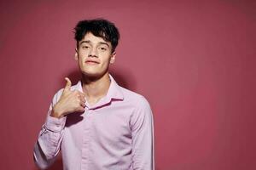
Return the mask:
<svg viewBox="0 0 256 170">
<path fill-rule="evenodd" d="M 100 78 L 82 76 L 83 91 L 85 98 L 90 105 L 94 105 L 106 96 L 110 86 L 110 78 L 108 72 Z"/>
</svg>

